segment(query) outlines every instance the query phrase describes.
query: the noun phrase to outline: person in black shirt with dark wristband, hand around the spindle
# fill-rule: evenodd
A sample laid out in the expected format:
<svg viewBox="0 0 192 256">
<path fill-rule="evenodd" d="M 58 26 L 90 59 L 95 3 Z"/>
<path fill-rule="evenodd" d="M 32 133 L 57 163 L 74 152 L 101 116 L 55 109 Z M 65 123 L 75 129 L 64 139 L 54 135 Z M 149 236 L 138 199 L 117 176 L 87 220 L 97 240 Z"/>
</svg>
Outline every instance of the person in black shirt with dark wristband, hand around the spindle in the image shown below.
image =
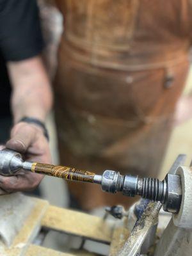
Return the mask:
<svg viewBox="0 0 192 256">
<path fill-rule="evenodd" d="M 24 154 L 30 161 L 51 163 L 44 122 L 52 106 L 52 90 L 41 58 L 43 47 L 36 1 L 1 1 L 1 130 L 5 127 L 8 130 L 6 120 L 10 120 L 11 93 L 13 115 L 10 139 L 5 146 Z M 1 144 L 3 142 L 1 134 Z M 13 177 L 0 175 L 0 195 L 30 191 L 38 186 L 42 178 L 42 175 L 22 171 Z"/>
</svg>

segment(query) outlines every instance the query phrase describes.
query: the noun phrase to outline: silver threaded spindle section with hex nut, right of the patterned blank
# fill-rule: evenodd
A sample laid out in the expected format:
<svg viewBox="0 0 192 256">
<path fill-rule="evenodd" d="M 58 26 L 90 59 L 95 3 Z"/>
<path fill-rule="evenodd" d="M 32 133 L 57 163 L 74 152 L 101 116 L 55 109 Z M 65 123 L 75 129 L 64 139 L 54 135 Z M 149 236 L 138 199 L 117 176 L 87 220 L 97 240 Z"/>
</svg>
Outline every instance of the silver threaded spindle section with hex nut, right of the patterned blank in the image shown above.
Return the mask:
<svg viewBox="0 0 192 256">
<path fill-rule="evenodd" d="M 106 170 L 100 184 L 103 191 L 122 192 L 125 196 L 140 195 L 143 198 L 161 202 L 164 211 L 176 213 L 180 209 L 182 189 L 179 175 L 168 173 L 164 180 L 140 178 L 137 175 L 120 175 Z"/>
</svg>

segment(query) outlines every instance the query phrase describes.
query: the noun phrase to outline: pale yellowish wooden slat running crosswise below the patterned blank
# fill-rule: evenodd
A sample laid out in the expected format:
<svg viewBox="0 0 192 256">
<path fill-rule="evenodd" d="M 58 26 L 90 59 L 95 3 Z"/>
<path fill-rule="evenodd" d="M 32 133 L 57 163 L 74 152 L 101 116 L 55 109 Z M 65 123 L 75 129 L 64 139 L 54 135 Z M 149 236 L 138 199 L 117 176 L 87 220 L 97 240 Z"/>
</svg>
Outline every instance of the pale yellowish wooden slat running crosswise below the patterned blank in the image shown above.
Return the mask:
<svg viewBox="0 0 192 256">
<path fill-rule="evenodd" d="M 110 244 L 115 227 L 114 220 L 103 220 L 84 212 L 50 205 L 42 218 L 42 227 Z"/>
</svg>

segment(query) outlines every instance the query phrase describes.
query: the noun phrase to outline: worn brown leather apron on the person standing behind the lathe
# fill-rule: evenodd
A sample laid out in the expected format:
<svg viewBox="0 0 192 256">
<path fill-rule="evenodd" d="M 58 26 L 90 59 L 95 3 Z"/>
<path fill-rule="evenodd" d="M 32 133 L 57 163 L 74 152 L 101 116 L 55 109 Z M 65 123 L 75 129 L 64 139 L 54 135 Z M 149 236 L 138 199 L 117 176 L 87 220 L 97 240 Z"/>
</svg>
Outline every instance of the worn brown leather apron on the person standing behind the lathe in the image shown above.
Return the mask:
<svg viewBox="0 0 192 256">
<path fill-rule="evenodd" d="M 188 1 L 58 2 L 61 163 L 157 177 L 188 74 Z M 93 184 L 69 189 L 83 209 L 131 202 Z"/>
</svg>

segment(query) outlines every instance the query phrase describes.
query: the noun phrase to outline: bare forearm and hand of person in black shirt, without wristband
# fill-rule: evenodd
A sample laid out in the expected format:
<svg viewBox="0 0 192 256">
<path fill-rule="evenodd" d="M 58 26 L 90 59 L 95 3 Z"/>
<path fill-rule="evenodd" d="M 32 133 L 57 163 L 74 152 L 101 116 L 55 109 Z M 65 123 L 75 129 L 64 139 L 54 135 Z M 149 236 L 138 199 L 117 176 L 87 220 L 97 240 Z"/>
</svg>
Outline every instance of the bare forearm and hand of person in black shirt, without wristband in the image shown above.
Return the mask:
<svg viewBox="0 0 192 256">
<path fill-rule="evenodd" d="M 13 87 L 11 104 L 14 125 L 6 147 L 24 154 L 29 161 L 51 163 L 49 144 L 43 129 L 35 124 L 19 122 L 24 116 L 44 122 L 51 109 L 51 86 L 42 60 L 37 56 L 23 61 L 9 61 L 7 67 Z M 13 177 L 0 175 L 0 193 L 32 190 L 42 177 L 26 171 Z"/>
</svg>

